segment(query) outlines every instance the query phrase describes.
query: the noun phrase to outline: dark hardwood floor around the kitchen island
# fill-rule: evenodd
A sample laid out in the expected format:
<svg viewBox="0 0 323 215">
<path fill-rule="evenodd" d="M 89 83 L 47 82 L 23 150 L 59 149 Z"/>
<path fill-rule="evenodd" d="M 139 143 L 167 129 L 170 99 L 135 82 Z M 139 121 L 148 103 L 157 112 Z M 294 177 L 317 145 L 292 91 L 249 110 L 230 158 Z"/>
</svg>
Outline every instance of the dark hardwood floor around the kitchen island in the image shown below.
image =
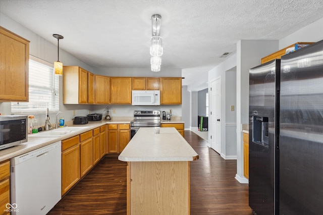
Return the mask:
<svg viewBox="0 0 323 215">
<path fill-rule="evenodd" d="M 224 160 L 191 131 L 185 131 L 185 139 L 199 155 L 190 168 L 191 215 L 251 215 L 248 184 L 234 178 L 236 161 Z M 117 157 L 105 157 L 48 214 L 125 215 L 126 167 Z"/>
</svg>

